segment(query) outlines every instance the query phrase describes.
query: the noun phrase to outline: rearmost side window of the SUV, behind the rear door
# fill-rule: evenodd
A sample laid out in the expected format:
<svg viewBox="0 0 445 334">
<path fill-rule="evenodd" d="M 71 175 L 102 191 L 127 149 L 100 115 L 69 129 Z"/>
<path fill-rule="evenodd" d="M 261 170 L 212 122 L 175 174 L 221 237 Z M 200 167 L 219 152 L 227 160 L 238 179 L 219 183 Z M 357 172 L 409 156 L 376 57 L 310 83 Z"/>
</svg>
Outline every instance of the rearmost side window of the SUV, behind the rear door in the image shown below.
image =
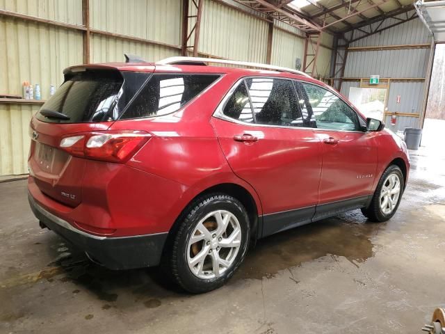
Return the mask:
<svg viewBox="0 0 445 334">
<path fill-rule="evenodd" d="M 153 74 L 121 119 L 163 116 L 181 109 L 219 75 Z"/>
</svg>

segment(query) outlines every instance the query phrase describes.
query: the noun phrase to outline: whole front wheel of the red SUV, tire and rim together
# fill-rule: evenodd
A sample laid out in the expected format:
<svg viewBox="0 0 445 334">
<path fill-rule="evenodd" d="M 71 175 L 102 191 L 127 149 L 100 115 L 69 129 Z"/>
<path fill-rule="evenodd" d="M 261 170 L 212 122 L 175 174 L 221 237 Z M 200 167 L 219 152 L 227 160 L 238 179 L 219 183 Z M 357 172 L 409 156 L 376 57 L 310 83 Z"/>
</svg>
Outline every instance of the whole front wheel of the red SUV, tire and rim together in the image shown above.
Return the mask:
<svg viewBox="0 0 445 334">
<path fill-rule="evenodd" d="M 371 221 L 387 221 L 396 213 L 401 202 L 405 182 L 401 168 L 391 165 L 385 170 L 369 207 L 362 209 Z"/>
</svg>

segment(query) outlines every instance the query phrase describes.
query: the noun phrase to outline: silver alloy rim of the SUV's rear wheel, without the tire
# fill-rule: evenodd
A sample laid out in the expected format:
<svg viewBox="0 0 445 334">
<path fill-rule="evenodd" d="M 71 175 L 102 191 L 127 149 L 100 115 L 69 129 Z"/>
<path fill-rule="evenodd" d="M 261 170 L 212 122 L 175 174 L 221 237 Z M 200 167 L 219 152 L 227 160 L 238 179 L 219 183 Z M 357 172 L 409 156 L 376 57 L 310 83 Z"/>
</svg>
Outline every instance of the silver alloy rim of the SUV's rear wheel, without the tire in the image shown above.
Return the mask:
<svg viewBox="0 0 445 334">
<path fill-rule="evenodd" d="M 191 234 L 187 245 L 187 262 L 198 278 L 218 278 L 229 269 L 241 246 L 241 225 L 232 212 L 210 212 Z"/>
</svg>

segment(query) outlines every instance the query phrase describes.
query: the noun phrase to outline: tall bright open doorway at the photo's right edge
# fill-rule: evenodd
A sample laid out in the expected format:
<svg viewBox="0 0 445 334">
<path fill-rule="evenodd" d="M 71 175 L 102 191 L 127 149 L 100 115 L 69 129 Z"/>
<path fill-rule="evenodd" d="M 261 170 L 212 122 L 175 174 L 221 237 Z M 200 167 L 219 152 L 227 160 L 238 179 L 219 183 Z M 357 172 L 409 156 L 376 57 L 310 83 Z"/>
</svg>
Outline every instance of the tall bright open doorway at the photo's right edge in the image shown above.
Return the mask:
<svg viewBox="0 0 445 334">
<path fill-rule="evenodd" d="M 426 104 L 425 120 L 423 121 L 422 146 L 428 149 L 437 148 L 442 152 L 443 143 L 440 138 L 445 129 L 445 44 L 435 48 L 434 62 L 430 81 L 430 91 Z"/>
</svg>

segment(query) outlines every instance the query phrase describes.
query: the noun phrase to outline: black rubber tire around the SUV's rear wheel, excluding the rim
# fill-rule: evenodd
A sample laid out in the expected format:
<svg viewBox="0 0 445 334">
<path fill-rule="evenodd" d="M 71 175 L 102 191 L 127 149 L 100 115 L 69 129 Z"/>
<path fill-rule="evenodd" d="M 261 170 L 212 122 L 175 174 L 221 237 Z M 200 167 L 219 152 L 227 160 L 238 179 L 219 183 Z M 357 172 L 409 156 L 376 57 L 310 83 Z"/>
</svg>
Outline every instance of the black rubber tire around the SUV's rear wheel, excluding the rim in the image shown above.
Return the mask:
<svg viewBox="0 0 445 334">
<path fill-rule="evenodd" d="M 187 255 L 190 251 L 188 250 L 188 241 L 201 219 L 216 210 L 226 210 L 236 216 L 241 228 L 241 245 L 230 267 L 225 269 L 219 277 L 199 278 L 188 267 Z M 181 217 L 179 225 L 173 232 L 170 249 L 167 250 L 165 256 L 167 263 L 166 267 L 164 264 L 164 269 L 170 271 L 170 277 L 175 283 L 191 293 L 199 294 L 221 287 L 233 276 L 248 250 L 250 224 L 244 206 L 232 196 L 224 193 L 211 193 L 194 200 Z"/>
</svg>

